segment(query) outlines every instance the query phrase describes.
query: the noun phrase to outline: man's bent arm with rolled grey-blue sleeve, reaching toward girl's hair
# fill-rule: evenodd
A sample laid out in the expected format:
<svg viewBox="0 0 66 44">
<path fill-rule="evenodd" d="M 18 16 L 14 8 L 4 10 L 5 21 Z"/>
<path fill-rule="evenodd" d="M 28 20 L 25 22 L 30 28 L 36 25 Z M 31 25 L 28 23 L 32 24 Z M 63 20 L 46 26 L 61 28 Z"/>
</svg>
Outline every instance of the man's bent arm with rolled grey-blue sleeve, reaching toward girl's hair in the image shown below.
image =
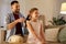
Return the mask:
<svg viewBox="0 0 66 44">
<path fill-rule="evenodd" d="M 10 15 L 8 15 L 7 16 L 7 29 L 8 30 L 13 29 L 18 22 L 21 22 L 21 23 L 24 22 L 24 18 L 20 18 L 13 22 L 10 22 Z"/>
</svg>

